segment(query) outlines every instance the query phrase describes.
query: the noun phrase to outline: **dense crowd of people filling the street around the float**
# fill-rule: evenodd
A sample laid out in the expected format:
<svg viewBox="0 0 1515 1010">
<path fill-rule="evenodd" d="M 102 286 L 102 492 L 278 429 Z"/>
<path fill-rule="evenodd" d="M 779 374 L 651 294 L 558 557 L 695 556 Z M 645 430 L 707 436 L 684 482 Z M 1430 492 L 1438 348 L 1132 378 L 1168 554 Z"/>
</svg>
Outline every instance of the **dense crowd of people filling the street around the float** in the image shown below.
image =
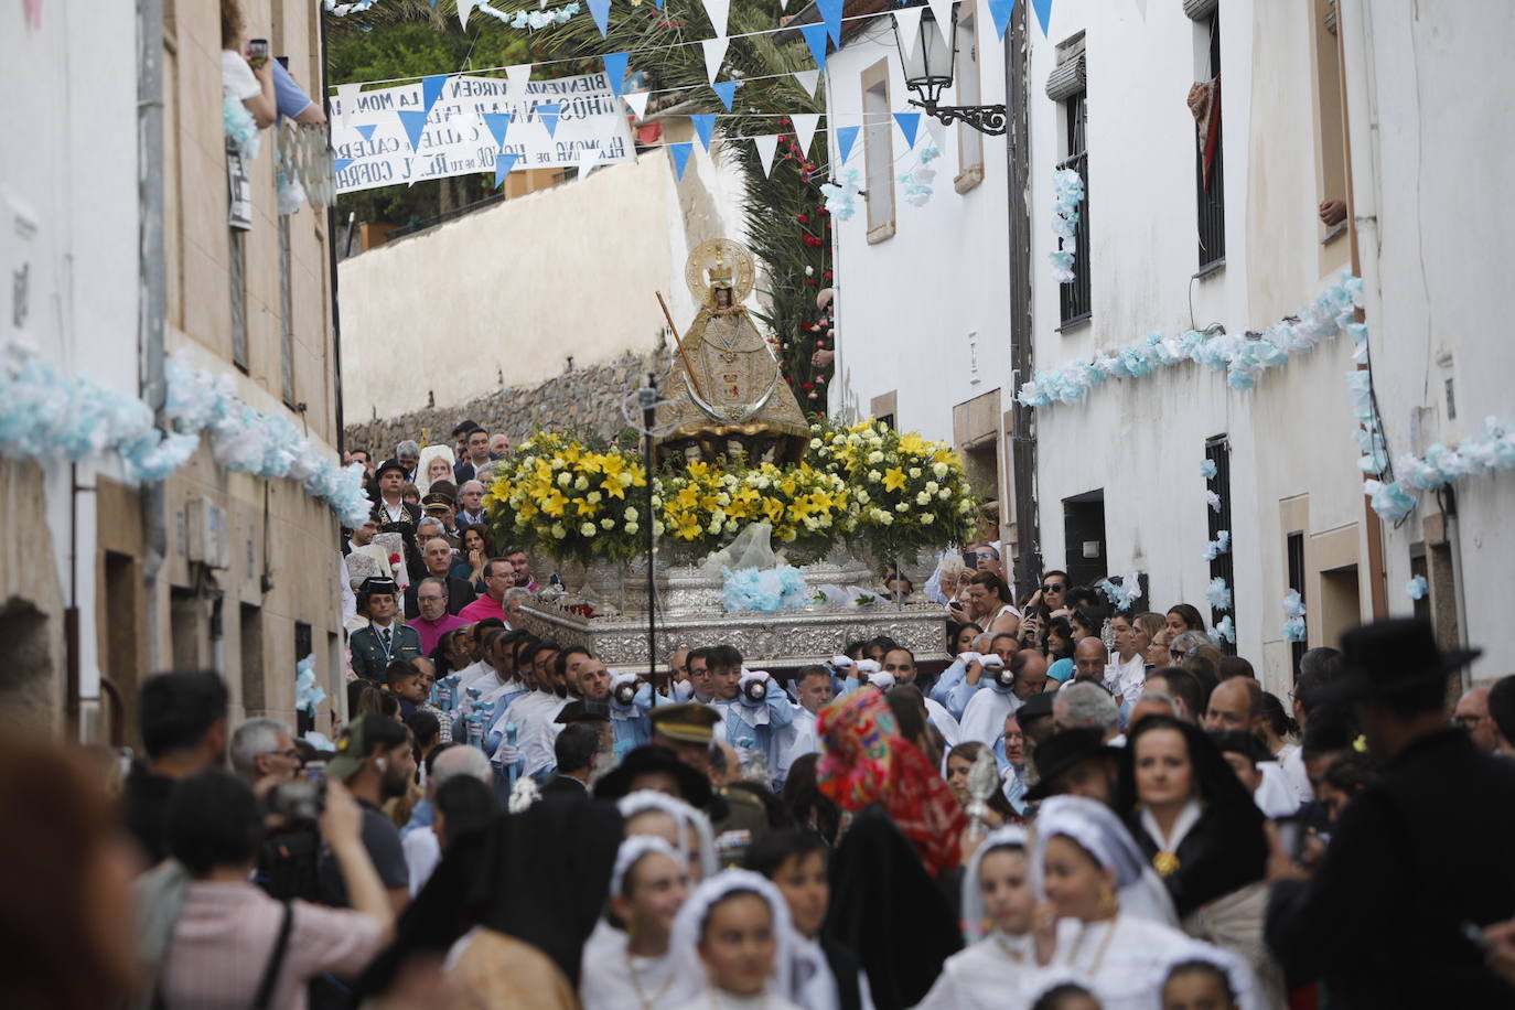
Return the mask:
<svg viewBox="0 0 1515 1010">
<path fill-rule="evenodd" d="M 142 684 L 114 801 L 108 762 L 0 743 L 11 1005 L 1515 1005 L 1515 677 L 1448 715 L 1474 654 L 1429 625 L 1304 653 L 1285 701 L 1195 607 L 1015 600 L 974 545 L 921 591 L 939 656 L 624 674 L 442 515 L 491 463 L 456 436 L 374 468 L 345 556 L 398 533 L 427 574 L 355 580 L 333 743 L 229 725 L 206 671 Z"/>
</svg>

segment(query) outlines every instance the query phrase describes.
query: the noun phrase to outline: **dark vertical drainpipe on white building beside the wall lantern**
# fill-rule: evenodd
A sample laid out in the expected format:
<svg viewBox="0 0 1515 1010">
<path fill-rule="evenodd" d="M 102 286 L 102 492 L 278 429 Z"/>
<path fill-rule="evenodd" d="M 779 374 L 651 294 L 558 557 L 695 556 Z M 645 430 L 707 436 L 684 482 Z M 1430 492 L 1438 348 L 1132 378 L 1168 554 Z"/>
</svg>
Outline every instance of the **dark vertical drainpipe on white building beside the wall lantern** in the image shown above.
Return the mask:
<svg viewBox="0 0 1515 1010">
<path fill-rule="evenodd" d="M 1027 123 L 1027 35 L 1026 5 L 1015 5 L 1004 45 L 1004 104 L 1009 111 L 1009 142 L 1004 145 L 1009 171 L 1011 244 L 1011 382 L 1014 426 L 1011 433 L 1011 475 L 1015 482 L 1015 588 L 1026 594 L 1041 578 L 1041 522 L 1036 515 L 1036 415 L 1014 400 L 1020 385 L 1032 374 L 1032 210 L 1030 210 L 1030 127 Z"/>
</svg>

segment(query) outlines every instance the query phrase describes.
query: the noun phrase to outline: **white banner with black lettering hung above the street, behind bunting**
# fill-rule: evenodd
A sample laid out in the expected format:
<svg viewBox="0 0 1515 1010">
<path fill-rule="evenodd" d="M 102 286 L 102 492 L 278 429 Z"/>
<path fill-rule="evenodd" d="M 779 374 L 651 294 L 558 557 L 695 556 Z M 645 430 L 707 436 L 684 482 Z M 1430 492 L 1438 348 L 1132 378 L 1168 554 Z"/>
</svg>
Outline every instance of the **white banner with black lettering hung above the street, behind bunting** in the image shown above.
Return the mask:
<svg viewBox="0 0 1515 1010">
<path fill-rule="evenodd" d="M 604 73 L 533 80 L 524 89 L 498 77 L 448 77 L 424 126 L 420 82 L 338 91 L 332 112 L 339 124 L 332 138 L 338 192 L 494 171 L 501 154 L 515 156 L 512 171 L 573 168 L 585 157 L 601 167 L 635 156 L 626 111 Z M 485 114 L 512 117 L 503 145 Z"/>
</svg>

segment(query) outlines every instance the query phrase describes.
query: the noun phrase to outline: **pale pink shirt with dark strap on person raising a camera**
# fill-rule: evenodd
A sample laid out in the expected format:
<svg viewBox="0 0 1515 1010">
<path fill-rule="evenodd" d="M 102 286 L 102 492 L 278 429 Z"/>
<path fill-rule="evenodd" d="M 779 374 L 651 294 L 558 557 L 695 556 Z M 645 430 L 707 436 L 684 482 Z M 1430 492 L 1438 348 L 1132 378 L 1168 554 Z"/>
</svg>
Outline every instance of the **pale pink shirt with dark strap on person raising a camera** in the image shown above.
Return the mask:
<svg viewBox="0 0 1515 1010">
<path fill-rule="evenodd" d="M 305 1010 L 315 975 L 353 977 L 379 952 L 379 924 L 350 909 L 294 901 L 270 1005 Z M 167 1010 L 247 1010 L 279 937 L 283 906 L 251 883 L 189 884 L 159 974 Z"/>
</svg>

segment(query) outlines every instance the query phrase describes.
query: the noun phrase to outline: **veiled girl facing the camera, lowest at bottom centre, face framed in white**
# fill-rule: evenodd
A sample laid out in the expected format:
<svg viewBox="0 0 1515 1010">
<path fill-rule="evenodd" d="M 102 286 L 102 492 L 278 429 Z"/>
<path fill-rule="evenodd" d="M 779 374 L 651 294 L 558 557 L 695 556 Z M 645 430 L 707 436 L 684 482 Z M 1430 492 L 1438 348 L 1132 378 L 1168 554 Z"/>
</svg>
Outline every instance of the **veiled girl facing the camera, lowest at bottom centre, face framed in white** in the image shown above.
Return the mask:
<svg viewBox="0 0 1515 1010">
<path fill-rule="evenodd" d="M 798 1010 L 789 992 L 789 906 L 762 874 L 727 869 L 695 887 L 673 924 L 673 949 L 694 949 L 700 992 L 676 1010 Z"/>
</svg>

